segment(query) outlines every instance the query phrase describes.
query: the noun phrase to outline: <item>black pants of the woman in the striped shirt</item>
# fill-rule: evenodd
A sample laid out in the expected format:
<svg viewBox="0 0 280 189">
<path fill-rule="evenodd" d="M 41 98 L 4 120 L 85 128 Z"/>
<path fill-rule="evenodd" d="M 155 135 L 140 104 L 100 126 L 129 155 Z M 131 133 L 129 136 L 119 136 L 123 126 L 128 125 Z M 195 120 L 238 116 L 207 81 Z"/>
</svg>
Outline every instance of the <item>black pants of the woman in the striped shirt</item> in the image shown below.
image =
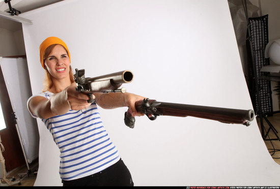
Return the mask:
<svg viewBox="0 0 280 189">
<path fill-rule="evenodd" d="M 122 160 L 101 172 L 75 180 L 62 180 L 63 186 L 133 186 L 131 174 Z"/>
</svg>

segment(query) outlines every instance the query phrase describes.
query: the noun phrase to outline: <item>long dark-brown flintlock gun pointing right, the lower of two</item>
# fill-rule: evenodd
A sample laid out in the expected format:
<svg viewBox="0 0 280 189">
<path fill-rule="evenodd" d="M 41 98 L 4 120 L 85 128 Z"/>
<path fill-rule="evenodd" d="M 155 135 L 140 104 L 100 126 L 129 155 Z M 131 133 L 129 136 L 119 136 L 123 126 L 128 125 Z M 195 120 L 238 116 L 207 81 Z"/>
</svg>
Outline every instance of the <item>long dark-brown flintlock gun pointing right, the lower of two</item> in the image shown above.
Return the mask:
<svg viewBox="0 0 280 189">
<path fill-rule="evenodd" d="M 204 119 L 212 119 L 223 123 L 237 123 L 249 126 L 249 121 L 253 121 L 255 117 L 253 110 L 175 104 L 157 102 L 156 100 L 149 99 L 136 102 L 135 107 L 137 112 L 145 113 L 150 120 L 155 120 L 157 116 L 160 115 L 177 117 L 192 116 Z M 128 127 L 134 128 L 135 117 L 132 117 L 129 111 L 125 112 L 124 121 Z"/>
</svg>

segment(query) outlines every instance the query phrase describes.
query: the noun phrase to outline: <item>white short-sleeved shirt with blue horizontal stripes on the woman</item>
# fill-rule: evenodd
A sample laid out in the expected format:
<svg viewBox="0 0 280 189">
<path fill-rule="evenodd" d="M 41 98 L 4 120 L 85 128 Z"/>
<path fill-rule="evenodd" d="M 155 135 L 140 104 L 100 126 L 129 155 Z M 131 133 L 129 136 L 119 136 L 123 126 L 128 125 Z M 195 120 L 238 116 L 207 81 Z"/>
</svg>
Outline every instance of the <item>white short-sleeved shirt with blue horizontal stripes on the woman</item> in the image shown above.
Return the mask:
<svg viewBox="0 0 280 189">
<path fill-rule="evenodd" d="M 52 94 L 46 91 L 32 96 L 27 107 L 33 97 L 49 99 Z M 92 175 L 120 160 L 117 147 L 103 127 L 96 103 L 92 103 L 86 112 L 70 110 L 64 115 L 42 119 L 59 147 L 63 180 Z M 37 118 L 33 113 L 31 115 Z"/>
</svg>

